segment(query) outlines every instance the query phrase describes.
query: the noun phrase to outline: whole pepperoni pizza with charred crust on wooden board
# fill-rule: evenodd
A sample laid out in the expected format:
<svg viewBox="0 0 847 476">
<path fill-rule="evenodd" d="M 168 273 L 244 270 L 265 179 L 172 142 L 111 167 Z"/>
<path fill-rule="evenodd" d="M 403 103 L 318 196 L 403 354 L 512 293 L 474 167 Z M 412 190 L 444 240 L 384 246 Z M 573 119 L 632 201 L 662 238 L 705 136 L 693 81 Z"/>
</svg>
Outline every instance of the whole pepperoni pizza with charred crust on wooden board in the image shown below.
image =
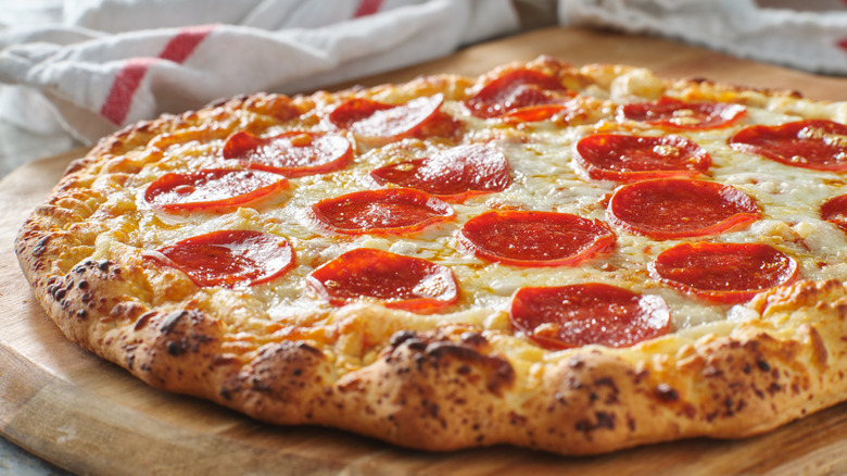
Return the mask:
<svg viewBox="0 0 847 476">
<path fill-rule="evenodd" d="M 741 438 L 847 397 L 846 122 L 546 57 L 253 93 L 102 139 L 16 253 L 67 338 L 270 424 Z"/>
</svg>

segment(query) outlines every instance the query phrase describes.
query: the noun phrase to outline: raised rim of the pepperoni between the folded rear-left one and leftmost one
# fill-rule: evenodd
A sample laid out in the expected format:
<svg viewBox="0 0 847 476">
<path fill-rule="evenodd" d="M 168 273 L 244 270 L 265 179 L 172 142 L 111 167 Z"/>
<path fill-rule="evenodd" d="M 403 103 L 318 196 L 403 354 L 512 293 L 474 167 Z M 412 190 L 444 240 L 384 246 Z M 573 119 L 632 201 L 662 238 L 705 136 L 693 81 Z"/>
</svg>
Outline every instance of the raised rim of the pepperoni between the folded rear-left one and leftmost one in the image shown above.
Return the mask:
<svg viewBox="0 0 847 476">
<path fill-rule="evenodd" d="M 293 167 L 279 167 L 275 166 L 273 164 L 266 164 L 260 161 L 250 160 L 249 158 L 241 156 L 240 154 L 233 154 L 229 149 L 235 146 L 230 146 L 233 141 L 244 141 L 249 143 L 249 148 L 256 148 L 262 147 L 264 145 L 273 142 L 275 139 L 279 138 L 289 138 L 289 137 L 298 137 L 301 135 L 309 136 L 311 139 L 314 141 L 316 138 L 327 138 L 328 140 L 333 140 L 337 142 L 337 145 L 341 145 L 341 141 L 343 140 L 345 143 L 344 150 L 341 153 L 338 153 L 337 156 L 333 156 L 331 160 L 320 163 L 318 165 L 312 165 L 312 166 L 293 166 Z M 253 168 L 257 171 L 264 171 L 264 172 L 271 172 L 275 174 L 285 175 L 289 178 L 296 178 L 296 177 L 303 177 L 306 175 L 317 175 L 317 174 L 326 174 L 329 172 L 336 172 L 340 171 L 341 168 L 344 168 L 350 164 L 350 161 L 353 159 L 353 145 L 350 142 L 349 139 L 342 136 L 336 136 L 331 134 L 325 134 L 325 133 L 312 133 L 312 131 L 305 131 L 305 130 L 291 130 L 282 134 L 278 134 L 273 137 L 266 137 L 266 138 L 260 138 L 254 136 L 253 134 L 241 130 L 238 133 L 232 134 L 227 138 L 227 141 L 224 143 L 224 149 L 222 151 L 222 155 L 226 160 L 236 161 L 241 166 L 246 168 Z"/>
</svg>

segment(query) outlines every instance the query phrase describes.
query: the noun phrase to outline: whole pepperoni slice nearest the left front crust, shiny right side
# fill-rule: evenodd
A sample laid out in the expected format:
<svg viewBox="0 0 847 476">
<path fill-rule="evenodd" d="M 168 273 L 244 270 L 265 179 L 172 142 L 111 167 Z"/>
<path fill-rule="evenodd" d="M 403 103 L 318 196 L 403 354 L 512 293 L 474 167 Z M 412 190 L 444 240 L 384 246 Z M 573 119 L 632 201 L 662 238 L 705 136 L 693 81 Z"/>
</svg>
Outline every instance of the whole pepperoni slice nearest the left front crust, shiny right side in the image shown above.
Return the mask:
<svg viewBox="0 0 847 476">
<path fill-rule="evenodd" d="M 294 265 L 285 238 L 251 230 L 220 230 L 185 239 L 148 258 L 186 273 L 198 286 L 235 288 L 267 283 Z"/>
</svg>

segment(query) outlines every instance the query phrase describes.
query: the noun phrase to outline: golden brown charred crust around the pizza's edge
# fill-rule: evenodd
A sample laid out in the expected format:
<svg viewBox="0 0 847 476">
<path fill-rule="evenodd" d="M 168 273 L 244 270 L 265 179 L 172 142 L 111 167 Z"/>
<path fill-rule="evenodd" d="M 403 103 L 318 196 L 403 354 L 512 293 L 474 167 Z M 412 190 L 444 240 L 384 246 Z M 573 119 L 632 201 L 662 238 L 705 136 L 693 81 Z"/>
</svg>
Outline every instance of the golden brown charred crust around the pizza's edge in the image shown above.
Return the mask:
<svg viewBox="0 0 847 476">
<path fill-rule="evenodd" d="M 130 126 L 74 162 L 33 213 L 16 240 L 22 268 L 69 339 L 152 386 L 270 423 L 334 426 L 427 450 L 509 443 L 590 454 L 695 436 L 737 438 L 840 401 L 847 287 L 836 280 L 764 292 L 744 320 L 632 348 L 549 352 L 523 339 L 523 350 L 509 352 L 520 339 L 502 326 L 374 304 L 315 308 L 280 322 L 253 305 L 255 297 L 208 291 L 144 261 L 146 212 L 119 190 L 137 186 L 142 171 L 178 167 L 163 160 L 169 148 L 222 141 L 236 130 L 258 134 L 294 115 L 301 126 L 316 125 L 316 110 L 352 97 L 402 102 L 441 92 L 463 100 L 524 66 L 479 80 L 434 76 L 309 97 L 246 96 Z M 625 66 L 574 68 L 542 58 L 529 67 L 573 90 L 620 97 L 672 90 L 786 113 L 819 107 L 791 93 L 661 82 Z M 574 124 L 609 115 L 608 98 L 582 101 Z M 843 114 L 842 105 L 831 108 L 818 114 Z M 488 312 L 491 320 L 503 313 Z"/>
</svg>

